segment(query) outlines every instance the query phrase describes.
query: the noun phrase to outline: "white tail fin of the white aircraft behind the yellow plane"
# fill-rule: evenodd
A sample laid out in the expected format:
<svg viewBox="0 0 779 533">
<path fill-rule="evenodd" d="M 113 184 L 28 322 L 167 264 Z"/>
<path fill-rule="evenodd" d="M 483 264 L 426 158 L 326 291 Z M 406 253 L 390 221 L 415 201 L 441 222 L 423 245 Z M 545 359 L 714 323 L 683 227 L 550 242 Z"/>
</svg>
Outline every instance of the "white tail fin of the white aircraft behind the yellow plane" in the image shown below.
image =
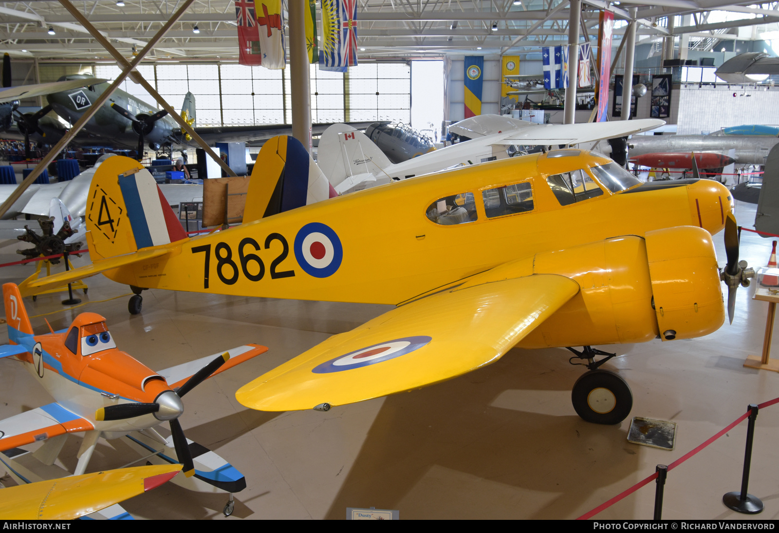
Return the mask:
<svg viewBox="0 0 779 533">
<path fill-rule="evenodd" d="M 365 133 L 347 124 L 333 124 L 326 129 L 317 154 L 319 167 L 333 186 L 354 175 L 381 173 L 392 164 Z"/>
</svg>

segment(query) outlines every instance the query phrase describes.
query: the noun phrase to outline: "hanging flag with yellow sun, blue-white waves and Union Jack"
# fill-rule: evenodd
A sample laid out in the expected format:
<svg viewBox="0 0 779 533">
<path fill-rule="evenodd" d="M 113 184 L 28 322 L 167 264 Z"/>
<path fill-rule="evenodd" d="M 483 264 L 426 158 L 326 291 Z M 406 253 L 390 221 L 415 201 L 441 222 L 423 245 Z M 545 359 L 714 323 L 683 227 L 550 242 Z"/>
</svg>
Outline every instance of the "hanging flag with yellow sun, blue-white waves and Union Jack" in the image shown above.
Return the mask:
<svg viewBox="0 0 779 533">
<path fill-rule="evenodd" d="M 322 0 L 322 48 L 320 70 L 357 65 L 357 0 Z"/>
</svg>

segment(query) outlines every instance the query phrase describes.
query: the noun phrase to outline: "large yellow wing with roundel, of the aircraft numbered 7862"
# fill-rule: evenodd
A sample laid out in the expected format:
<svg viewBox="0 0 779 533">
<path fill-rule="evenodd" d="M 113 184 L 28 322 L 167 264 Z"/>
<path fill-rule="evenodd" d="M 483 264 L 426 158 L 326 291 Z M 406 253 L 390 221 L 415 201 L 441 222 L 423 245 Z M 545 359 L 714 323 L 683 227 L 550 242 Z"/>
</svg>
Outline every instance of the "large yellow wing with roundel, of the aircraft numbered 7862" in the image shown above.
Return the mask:
<svg viewBox="0 0 779 533">
<path fill-rule="evenodd" d="M 575 281 L 554 274 L 495 277 L 482 275 L 330 337 L 235 397 L 261 411 L 326 410 L 322 404 L 438 383 L 495 362 L 579 291 Z"/>
</svg>

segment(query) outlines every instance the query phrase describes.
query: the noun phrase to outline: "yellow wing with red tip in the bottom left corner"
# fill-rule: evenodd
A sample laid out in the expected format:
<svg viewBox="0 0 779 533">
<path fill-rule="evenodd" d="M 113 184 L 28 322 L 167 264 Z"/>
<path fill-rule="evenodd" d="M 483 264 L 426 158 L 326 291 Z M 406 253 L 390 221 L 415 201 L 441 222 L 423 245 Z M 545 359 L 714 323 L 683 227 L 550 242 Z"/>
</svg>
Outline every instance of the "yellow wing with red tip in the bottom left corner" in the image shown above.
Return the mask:
<svg viewBox="0 0 779 533">
<path fill-rule="evenodd" d="M 71 520 L 162 485 L 181 464 L 119 468 L 0 490 L 0 520 Z"/>
</svg>

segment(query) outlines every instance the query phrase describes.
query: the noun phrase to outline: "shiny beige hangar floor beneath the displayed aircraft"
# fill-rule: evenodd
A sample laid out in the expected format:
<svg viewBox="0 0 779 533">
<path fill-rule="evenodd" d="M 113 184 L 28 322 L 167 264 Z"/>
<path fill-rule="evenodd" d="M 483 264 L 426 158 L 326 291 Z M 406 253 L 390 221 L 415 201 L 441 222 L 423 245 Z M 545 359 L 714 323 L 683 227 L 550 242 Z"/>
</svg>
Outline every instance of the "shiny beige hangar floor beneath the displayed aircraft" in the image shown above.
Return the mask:
<svg viewBox="0 0 779 533">
<path fill-rule="evenodd" d="M 736 216 L 750 227 L 754 212 L 755 206 L 739 203 Z M 715 242 L 724 263 L 722 234 Z M 0 262 L 18 259 L 15 249 L 14 243 L 0 248 Z M 744 232 L 741 257 L 750 266 L 767 263 L 769 253 L 769 240 Z M 31 272 L 29 266 L 2 268 L 0 281 L 18 282 Z M 231 519 L 341 519 L 346 507 L 397 509 L 401 519 L 574 518 L 650 475 L 655 464 L 696 447 L 747 404 L 779 397 L 777 374 L 742 366 L 747 355 L 760 355 L 767 313 L 767 304 L 751 300 L 746 289 L 738 292 L 733 324 L 708 337 L 601 347 L 620 355 L 606 368 L 619 370 L 632 387 L 631 417 L 678 423 L 676 449 L 666 451 L 628 443 L 630 418 L 615 426 L 578 418 L 569 391 L 583 369 L 569 365 L 562 348 L 514 349 L 446 383 L 326 413 L 247 410 L 235 401 L 238 387 L 390 306 L 146 291 L 143 313 L 130 316 L 126 287 L 102 276 L 87 283 L 82 298 L 89 305 L 62 310 L 62 295 L 43 295 L 34 303 L 26 299 L 28 312 L 54 312 L 46 318 L 55 329 L 67 327 L 78 312 L 100 312 L 118 347 L 153 369 L 249 342 L 270 347 L 185 398 L 186 435 L 246 476 Z M 33 327 L 46 330 L 44 318 L 33 318 Z M 0 360 L 0 418 L 50 401 L 19 363 Z M 724 492 L 740 487 L 745 435 L 743 422 L 671 471 L 664 518 L 747 517 L 721 503 Z M 766 510 L 756 518 L 779 517 L 777 437 L 779 405 L 757 418 L 749 492 Z M 66 468 L 75 466 L 79 442 L 69 437 L 61 454 Z M 100 441 L 90 470 L 136 458 L 123 451 Z M 221 519 L 225 499 L 167 484 L 123 506 L 138 518 Z M 653 506 L 650 485 L 597 518 L 651 518 Z"/>
</svg>

